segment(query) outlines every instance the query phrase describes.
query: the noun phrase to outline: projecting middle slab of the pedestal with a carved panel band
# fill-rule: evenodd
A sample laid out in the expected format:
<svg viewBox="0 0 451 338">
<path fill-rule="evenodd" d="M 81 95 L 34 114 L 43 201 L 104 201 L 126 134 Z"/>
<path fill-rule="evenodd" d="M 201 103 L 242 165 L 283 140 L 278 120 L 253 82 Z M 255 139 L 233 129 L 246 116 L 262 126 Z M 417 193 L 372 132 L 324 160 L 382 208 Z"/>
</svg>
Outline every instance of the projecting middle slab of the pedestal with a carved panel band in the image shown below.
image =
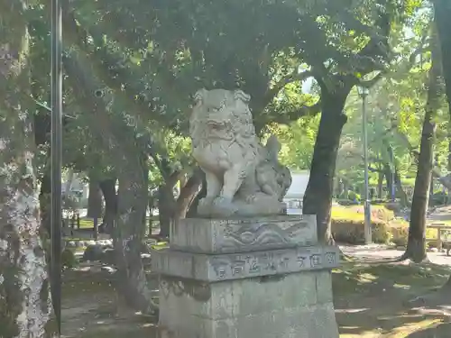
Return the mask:
<svg viewBox="0 0 451 338">
<path fill-rule="evenodd" d="M 152 251 L 152 269 L 163 275 L 219 281 L 332 269 L 338 265 L 338 259 L 336 246 L 214 255 L 163 249 Z"/>
</svg>

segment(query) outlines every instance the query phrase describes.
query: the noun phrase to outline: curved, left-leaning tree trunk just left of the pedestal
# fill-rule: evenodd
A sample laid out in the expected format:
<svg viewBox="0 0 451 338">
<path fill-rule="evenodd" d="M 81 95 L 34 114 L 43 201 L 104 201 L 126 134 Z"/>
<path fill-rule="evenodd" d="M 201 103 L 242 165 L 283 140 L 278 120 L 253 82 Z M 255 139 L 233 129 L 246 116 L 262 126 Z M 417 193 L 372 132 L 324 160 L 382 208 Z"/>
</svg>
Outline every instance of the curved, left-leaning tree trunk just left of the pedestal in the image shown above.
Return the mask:
<svg viewBox="0 0 451 338">
<path fill-rule="evenodd" d="M 114 242 L 118 292 L 124 295 L 124 300 L 135 310 L 142 313 L 153 312 L 155 306 L 147 286 L 140 252 L 145 226 L 143 210 L 147 204 L 147 189 L 143 182 L 144 159 L 140 156 L 138 142 L 133 139 L 133 131 L 126 124 L 120 124 L 119 121 L 113 123 L 110 120 L 104 99 L 92 95 L 97 89 L 97 84 L 90 78 L 89 70 L 81 60 L 72 54 L 69 58 L 64 58 L 63 63 L 79 102 L 94 112 L 97 121 L 92 125 L 93 130 L 101 137 L 104 147 L 114 151 L 116 156 L 119 196 L 116 205 L 118 216 L 117 225 L 114 227 Z M 105 182 L 101 182 L 100 187 L 107 204 L 108 196 L 115 196 L 115 179 L 107 185 L 109 194 L 104 190 L 105 184 L 102 183 Z M 110 206 L 110 210 L 112 208 L 114 205 Z"/>
</svg>

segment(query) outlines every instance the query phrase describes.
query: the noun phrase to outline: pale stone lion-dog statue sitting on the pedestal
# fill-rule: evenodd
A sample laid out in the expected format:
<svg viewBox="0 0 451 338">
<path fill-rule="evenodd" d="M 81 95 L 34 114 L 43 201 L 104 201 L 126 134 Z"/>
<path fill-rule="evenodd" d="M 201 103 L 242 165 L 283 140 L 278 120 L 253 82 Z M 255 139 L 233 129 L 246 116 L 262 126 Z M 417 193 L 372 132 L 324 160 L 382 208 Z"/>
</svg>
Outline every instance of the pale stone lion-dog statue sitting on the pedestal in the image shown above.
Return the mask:
<svg viewBox="0 0 451 338">
<path fill-rule="evenodd" d="M 201 89 L 189 120 L 192 153 L 207 179 L 198 214 L 278 215 L 291 184 L 290 170 L 277 159 L 281 144 L 272 136 L 263 147 L 241 90 Z"/>
</svg>

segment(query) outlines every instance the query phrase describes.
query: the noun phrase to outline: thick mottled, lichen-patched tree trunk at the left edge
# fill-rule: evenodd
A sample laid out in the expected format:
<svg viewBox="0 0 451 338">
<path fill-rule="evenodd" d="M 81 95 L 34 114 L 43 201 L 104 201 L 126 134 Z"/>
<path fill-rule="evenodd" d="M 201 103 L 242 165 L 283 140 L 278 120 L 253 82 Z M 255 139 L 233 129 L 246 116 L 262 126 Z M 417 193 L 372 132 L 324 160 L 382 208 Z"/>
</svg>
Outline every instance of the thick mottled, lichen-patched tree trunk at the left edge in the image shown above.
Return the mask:
<svg viewBox="0 0 451 338">
<path fill-rule="evenodd" d="M 28 32 L 23 1 L 0 13 L 0 337 L 48 334 L 51 297 L 40 235 Z M 7 39 L 7 40 L 5 40 Z M 31 110 L 31 109 L 30 109 Z"/>
</svg>

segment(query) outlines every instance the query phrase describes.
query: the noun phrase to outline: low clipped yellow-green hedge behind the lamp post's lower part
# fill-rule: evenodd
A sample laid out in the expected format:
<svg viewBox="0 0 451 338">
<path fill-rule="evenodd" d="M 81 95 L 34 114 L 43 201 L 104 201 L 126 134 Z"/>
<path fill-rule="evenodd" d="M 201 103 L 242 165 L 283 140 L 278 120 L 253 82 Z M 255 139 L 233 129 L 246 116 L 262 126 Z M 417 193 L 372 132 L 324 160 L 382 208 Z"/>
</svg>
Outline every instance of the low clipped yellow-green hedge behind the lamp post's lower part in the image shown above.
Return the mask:
<svg viewBox="0 0 451 338">
<path fill-rule="evenodd" d="M 331 227 L 336 242 L 364 243 L 364 219 L 332 219 Z M 387 243 L 391 239 L 390 226 L 380 219 L 372 219 L 372 233 L 373 242 Z"/>
</svg>

